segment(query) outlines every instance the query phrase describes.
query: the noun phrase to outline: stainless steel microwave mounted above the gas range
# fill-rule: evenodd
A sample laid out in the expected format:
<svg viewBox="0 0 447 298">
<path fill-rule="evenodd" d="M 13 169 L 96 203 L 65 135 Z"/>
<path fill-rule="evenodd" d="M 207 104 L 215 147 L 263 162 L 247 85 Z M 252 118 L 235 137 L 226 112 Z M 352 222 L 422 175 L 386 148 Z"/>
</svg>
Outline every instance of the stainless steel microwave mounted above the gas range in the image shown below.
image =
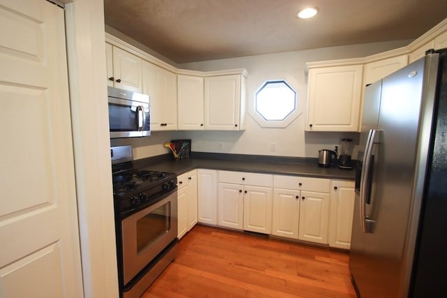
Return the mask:
<svg viewBox="0 0 447 298">
<path fill-rule="evenodd" d="M 149 96 L 108 87 L 110 138 L 151 135 Z"/>
</svg>

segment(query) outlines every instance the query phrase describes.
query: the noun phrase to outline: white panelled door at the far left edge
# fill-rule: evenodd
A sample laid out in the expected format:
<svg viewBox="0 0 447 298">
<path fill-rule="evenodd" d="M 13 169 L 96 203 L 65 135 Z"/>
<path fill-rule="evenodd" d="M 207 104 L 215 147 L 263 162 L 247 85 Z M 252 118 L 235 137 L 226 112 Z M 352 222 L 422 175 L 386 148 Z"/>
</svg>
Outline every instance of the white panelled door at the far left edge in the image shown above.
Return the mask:
<svg viewBox="0 0 447 298">
<path fill-rule="evenodd" d="M 64 10 L 0 0 L 0 296 L 83 297 Z"/>
</svg>

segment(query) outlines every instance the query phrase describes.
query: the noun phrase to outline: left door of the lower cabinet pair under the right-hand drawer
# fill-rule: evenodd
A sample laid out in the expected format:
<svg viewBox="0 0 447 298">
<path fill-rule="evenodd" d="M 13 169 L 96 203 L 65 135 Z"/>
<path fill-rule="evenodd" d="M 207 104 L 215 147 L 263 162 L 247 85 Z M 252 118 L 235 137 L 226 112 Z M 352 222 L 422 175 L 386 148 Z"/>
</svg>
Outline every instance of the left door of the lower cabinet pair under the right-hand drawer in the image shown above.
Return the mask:
<svg viewBox="0 0 447 298">
<path fill-rule="evenodd" d="M 274 188 L 272 234 L 298 239 L 298 223 L 300 219 L 299 193 L 300 191 L 298 190 Z"/>
</svg>

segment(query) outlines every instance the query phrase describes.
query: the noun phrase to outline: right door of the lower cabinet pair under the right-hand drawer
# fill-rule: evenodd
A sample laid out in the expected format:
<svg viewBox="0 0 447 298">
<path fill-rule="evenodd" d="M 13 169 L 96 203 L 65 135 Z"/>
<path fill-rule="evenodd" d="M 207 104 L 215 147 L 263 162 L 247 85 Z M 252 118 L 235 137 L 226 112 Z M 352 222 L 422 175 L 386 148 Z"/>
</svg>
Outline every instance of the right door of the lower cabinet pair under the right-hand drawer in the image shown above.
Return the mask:
<svg viewBox="0 0 447 298">
<path fill-rule="evenodd" d="M 328 193 L 301 191 L 299 239 L 328 244 Z"/>
</svg>

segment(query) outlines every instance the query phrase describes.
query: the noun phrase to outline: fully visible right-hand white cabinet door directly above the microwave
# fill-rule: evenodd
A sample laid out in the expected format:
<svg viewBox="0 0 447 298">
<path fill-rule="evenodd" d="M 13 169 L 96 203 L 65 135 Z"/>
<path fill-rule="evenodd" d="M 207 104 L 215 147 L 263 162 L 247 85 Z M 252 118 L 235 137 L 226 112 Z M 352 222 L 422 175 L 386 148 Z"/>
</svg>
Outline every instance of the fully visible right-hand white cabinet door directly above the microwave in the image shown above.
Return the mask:
<svg viewBox="0 0 447 298">
<path fill-rule="evenodd" d="M 142 59 L 113 47 L 114 87 L 136 92 L 142 91 Z"/>
</svg>

